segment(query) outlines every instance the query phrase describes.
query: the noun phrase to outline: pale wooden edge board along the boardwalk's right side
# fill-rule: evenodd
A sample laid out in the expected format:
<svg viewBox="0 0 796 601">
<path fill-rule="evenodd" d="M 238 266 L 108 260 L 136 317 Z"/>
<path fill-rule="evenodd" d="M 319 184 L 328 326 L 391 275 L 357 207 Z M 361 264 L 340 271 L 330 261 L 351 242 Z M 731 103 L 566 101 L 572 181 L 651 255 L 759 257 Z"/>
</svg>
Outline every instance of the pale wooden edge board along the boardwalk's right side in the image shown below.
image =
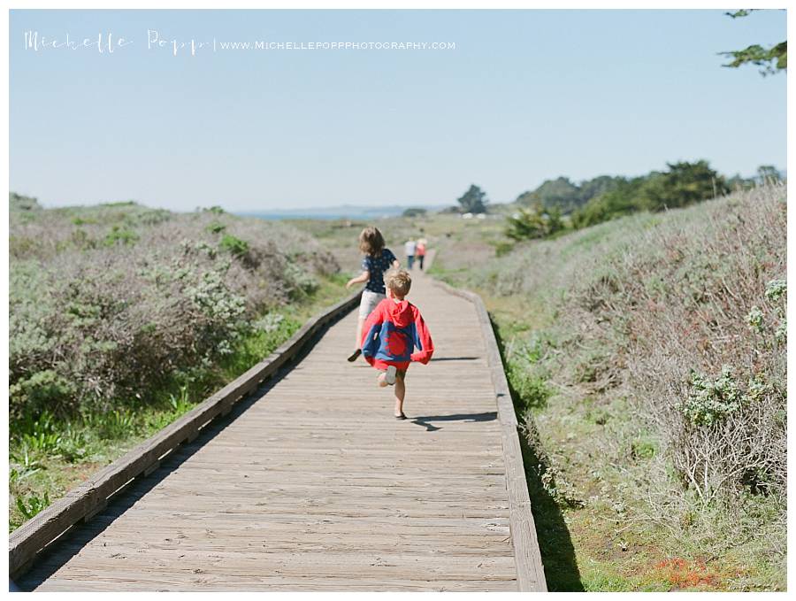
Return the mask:
<svg viewBox="0 0 796 601">
<path fill-rule="evenodd" d="M 509 534 L 517 564 L 517 589 L 521 591 L 547 592 L 545 570 L 541 562 L 536 525 L 531 512 L 531 497 L 525 480 L 522 448 L 519 442 L 519 424 L 514 404 L 511 401 L 509 381 L 503 369 L 501 353 L 494 336 L 489 313 L 484 301 L 474 292 L 456 289 L 444 281 L 433 283 L 457 297 L 463 297 L 475 305 L 478 322 L 486 343 L 486 358 L 494 383 L 494 395 L 501 422 L 503 459 L 506 463 L 506 488 L 509 491 Z"/>
</svg>

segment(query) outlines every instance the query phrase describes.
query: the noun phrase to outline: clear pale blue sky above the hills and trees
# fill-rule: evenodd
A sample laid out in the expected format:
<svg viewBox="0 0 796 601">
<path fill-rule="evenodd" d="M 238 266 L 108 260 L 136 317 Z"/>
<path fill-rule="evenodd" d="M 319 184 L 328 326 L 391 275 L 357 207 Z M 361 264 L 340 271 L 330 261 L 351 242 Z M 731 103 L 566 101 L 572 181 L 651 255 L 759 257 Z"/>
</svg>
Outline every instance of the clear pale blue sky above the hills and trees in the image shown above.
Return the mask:
<svg viewBox="0 0 796 601">
<path fill-rule="evenodd" d="M 785 169 L 785 74 L 717 56 L 784 11 L 12 11 L 10 187 L 47 206 L 193 210 L 494 202 L 558 175 L 706 158 Z M 455 42 L 455 50 L 147 48 Z M 111 33 L 133 43 L 24 48 Z"/>
</svg>

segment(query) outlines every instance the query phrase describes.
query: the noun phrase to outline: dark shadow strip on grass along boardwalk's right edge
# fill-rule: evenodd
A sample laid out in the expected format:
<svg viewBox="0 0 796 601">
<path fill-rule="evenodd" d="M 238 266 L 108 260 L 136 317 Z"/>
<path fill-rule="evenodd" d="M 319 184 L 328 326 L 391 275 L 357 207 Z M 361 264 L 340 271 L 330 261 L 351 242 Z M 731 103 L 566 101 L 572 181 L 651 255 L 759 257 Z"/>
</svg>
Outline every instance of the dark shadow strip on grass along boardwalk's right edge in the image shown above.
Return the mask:
<svg viewBox="0 0 796 601">
<path fill-rule="evenodd" d="M 501 351 L 503 366 L 506 366 L 506 358 L 503 355 L 503 341 L 497 324 L 492 322 L 495 338 L 497 338 L 498 348 Z M 508 378 L 507 378 L 508 380 Z M 511 385 L 509 380 L 509 391 L 511 400 L 517 412 L 517 390 Z M 534 448 L 529 441 L 539 440 L 535 435 L 535 425 L 532 420 L 526 419 L 524 415 L 517 415 L 520 424 L 517 433 L 520 446 L 523 451 L 523 465 L 525 468 L 525 480 L 528 483 L 528 493 L 531 497 L 533 521 L 536 524 L 536 534 L 539 539 L 539 550 L 542 565 L 545 566 L 545 580 L 547 590 L 557 591 L 585 591 L 583 582 L 580 580 L 578 570 L 578 559 L 575 556 L 575 547 L 572 545 L 570 530 L 564 521 L 561 507 L 555 498 L 548 492 L 541 480 L 541 474 L 547 470 L 545 452 L 543 449 Z"/>
</svg>

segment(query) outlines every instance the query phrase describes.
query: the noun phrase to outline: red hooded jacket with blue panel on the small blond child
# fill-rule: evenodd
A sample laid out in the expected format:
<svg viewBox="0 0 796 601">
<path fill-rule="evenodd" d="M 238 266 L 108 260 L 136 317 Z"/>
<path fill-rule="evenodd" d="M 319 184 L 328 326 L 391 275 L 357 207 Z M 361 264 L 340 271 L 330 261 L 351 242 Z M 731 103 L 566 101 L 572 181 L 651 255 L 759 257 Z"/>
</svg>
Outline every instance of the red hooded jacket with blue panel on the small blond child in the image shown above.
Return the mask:
<svg viewBox="0 0 796 601">
<path fill-rule="evenodd" d="M 411 361 L 426 364 L 434 352 L 423 316 L 407 300 L 381 301 L 365 320 L 362 332 L 362 355 L 377 369 L 406 369 Z"/>
</svg>

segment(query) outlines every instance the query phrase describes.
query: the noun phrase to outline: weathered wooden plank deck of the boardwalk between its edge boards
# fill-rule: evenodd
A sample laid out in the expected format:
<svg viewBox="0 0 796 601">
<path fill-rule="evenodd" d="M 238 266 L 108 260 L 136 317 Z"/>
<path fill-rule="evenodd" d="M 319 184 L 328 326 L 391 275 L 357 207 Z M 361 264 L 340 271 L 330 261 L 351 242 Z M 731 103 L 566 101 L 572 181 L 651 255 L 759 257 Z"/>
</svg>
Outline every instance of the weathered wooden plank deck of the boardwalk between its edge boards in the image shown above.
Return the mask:
<svg viewBox="0 0 796 601">
<path fill-rule="evenodd" d="M 417 271 L 409 300 L 437 349 L 409 368 L 409 420 L 394 420 L 375 370 L 346 362 L 352 312 L 43 555 L 19 587 L 517 590 L 478 313 Z"/>
</svg>

